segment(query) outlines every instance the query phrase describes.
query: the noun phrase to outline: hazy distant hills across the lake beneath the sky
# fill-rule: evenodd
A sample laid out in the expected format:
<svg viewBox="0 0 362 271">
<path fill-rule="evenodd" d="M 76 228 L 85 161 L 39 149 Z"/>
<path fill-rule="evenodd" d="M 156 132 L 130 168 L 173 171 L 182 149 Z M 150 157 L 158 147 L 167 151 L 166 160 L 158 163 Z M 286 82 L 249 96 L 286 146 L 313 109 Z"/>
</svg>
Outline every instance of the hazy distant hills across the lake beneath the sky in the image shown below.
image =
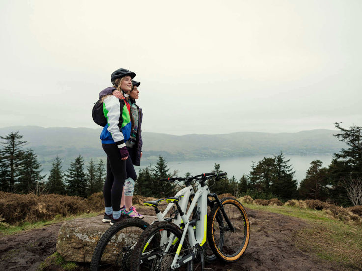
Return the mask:
<svg viewBox="0 0 362 271">
<path fill-rule="evenodd" d="M 81 154 L 85 160 L 104 158 L 99 135 L 101 128 L 42 128 L 38 126 L 12 126 L 0 128 L 6 136 L 19 131 L 32 148 L 44 169 L 59 155 L 64 167 Z M 311 130 L 297 133 L 236 132 L 231 134 L 189 134 L 175 136 L 143 132 L 144 161 L 159 155 L 172 160 L 273 155 L 283 151 L 286 155 L 332 154 L 346 145 L 338 141 L 334 130 Z"/>
</svg>

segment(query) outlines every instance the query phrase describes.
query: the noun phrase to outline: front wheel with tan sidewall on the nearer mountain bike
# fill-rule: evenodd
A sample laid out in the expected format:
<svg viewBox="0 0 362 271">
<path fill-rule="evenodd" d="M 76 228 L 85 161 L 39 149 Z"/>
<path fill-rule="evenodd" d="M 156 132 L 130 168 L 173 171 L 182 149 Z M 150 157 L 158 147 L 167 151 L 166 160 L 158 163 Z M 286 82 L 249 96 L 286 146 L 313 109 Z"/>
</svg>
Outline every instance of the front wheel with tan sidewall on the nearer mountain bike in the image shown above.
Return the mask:
<svg viewBox="0 0 362 271">
<path fill-rule="evenodd" d="M 214 254 L 225 262 L 234 262 L 243 255 L 249 243 L 250 225 L 243 205 L 234 198 L 220 200 L 234 231 L 231 231 L 220 207 L 215 204 L 207 221 L 207 238 Z"/>
</svg>

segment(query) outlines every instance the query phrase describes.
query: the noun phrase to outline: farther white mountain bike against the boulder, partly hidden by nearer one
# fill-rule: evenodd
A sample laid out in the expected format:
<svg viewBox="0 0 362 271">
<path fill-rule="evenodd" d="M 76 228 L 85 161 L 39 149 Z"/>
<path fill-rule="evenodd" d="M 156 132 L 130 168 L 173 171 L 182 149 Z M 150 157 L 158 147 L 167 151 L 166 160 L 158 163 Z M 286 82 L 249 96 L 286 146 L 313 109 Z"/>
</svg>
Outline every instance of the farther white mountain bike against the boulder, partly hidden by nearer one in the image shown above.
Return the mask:
<svg viewBox="0 0 362 271">
<path fill-rule="evenodd" d="M 183 182 L 185 187 L 181 188 L 181 190 L 177 192 L 176 196 L 184 195 L 185 198 L 189 199 L 189 203 L 191 203 L 191 198 L 195 195 L 192 181 L 200 176 L 201 175 L 189 178 L 179 178 L 179 177 L 166 178 L 166 179 L 161 179 L 161 181 Z M 178 215 L 178 210 L 175 209 L 174 203 L 169 202 L 169 204 L 167 205 L 166 209 L 163 212 L 161 212 L 158 209 L 158 204 L 164 200 L 165 199 L 147 201 L 144 202 L 144 205 L 154 207 L 157 221 L 172 221 L 177 225 L 180 225 L 182 223 L 182 218 Z M 185 204 L 187 205 L 186 201 Z M 212 210 L 214 204 L 215 201 L 210 200 L 209 198 L 207 199 L 207 206 L 209 210 Z M 171 215 L 169 218 L 166 218 L 168 213 L 171 213 Z M 192 213 L 192 218 L 195 218 L 196 216 L 197 216 L 197 206 L 195 206 L 195 210 Z M 133 250 L 139 235 L 148 226 L 149 223 L 143 220 L 139 220 L 138 218 L 131 218 L 120 221 L 111 226 L 109 229 L 107 229 L 107 231 L 101 236 L 93 252 L 90 264 L 90 270 L 91 271 L 101 271 L 101 270 L 128 271 L 131 250 Z M 206 262 L 214 261 L 216 259 L 216 256 L 209 247 L 208 242 L 206 242 L 204 246 L 205 246 L 204 249 L 205 261 Z"/>
</svg>

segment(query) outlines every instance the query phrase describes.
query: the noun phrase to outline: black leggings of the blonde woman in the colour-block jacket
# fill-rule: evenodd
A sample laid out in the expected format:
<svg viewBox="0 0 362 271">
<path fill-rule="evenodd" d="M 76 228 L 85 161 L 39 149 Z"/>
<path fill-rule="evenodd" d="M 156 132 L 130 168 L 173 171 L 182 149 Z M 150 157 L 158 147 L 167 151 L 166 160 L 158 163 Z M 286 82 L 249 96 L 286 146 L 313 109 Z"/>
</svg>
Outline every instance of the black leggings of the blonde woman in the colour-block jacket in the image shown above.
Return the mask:
<svg viewBox="0 0 362 271">
<path fill-rule="evenodd" d="M 121 209 L 121 197 L 123 184 L 127 177 L 126 161 L 121 159 L 121 153 L 116 144 L 102 144 L 107 154 L 107 174 L 103 186 L 103 197 L 106 207 L 112 207 L 113 211 Z M 127 160 L 129 160 L 128 157 Z"/>
</svg>

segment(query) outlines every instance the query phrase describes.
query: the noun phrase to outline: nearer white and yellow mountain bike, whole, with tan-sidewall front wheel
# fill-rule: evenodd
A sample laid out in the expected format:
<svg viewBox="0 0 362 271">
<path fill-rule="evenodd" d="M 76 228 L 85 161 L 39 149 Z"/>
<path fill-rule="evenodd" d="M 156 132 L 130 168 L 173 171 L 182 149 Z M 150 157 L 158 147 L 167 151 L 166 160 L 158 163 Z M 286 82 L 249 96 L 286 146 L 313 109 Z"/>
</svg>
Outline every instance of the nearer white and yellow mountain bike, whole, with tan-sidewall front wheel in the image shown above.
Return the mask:
<svg viewBox="0 0 362 271">
<path fill-rule="evenodd" d="M 198 265 L 204 270 L 203 245 L 206 239 L 215 255 L 223 261 L 233 262 L 243 255 L 250 236 L 247 213 L 236 199 L 219 200 L 216 194 L 210 193 L 206 180 L 212 176 L 217 175 L 206 173 L 193 178 L 200 187 L 188 210 L 190 194 L 187 191 L 183 194 L 180 190 L 175 197 L 166 198 L 167 202 L 176 205 L 179 218 L 173 223 L 155 222 L 142 232 L 131 251 L 131 271 L 193 271 L 194 260 L 198 260 Z M 208 196 L 214 197 L 216 203 L 209 218 Z M 189 220 L 196 204 L 196 218 Z M 178 222 L 181 222 L 179 226 Z"/>
</svg>

